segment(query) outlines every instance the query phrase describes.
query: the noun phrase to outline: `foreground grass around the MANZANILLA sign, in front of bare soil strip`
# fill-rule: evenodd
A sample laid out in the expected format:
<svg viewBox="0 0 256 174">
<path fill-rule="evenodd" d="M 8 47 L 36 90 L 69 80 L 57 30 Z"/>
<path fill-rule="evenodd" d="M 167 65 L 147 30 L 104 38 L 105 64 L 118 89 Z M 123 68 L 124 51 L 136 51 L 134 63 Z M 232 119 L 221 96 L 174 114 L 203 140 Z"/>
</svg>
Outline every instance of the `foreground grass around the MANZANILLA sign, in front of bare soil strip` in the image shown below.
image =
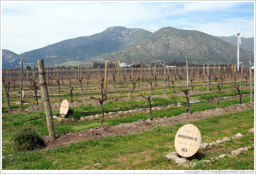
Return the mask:
<svg viewBox="0 0 256 174">
<path fill-rule="evenodd" d="M 235 158 L 223 158 L 212 165 L 203 165 L 201 160 L 209 160 L 218 155 L 230 153 L 244 146 L 254 144 L 254 135 L 247 130 L 254 126 L 254 109 L 239 113 L 214 116 L 209 119 L 190 122 L 197 126 L 202 135 L 202 142 L 212 142 L 223 137 L 244 134 L 243 138 L 228 141 L 224 145 L 200 149 L 189 160 L 201 170 L 253 170 L 253 148 Z M 4 145 L 2 152 L 3 170 L 180 170 L 187 169 L 166 161 L 163 155 L 175 152 L 174 138 L 177 130 L 184 124 L 160 127 L 138 134 L 104 137 L 71 144 L 66 147 L 43 149 L 42 151 L 15 151 Z M 5 138 L 3 137 L 3 141 Z M 229 149 L 229 150 L 227 150 Z M 188 168 L 192 169 L 192 168 Z"/>
</svg>

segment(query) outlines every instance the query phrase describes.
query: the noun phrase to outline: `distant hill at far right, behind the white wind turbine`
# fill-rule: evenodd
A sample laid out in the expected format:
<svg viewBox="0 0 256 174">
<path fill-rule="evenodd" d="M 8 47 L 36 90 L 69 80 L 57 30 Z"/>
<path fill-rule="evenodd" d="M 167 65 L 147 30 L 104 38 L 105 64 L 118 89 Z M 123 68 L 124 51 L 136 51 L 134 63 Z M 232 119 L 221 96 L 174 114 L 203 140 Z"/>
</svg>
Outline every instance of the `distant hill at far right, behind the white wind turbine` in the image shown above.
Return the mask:
<svg viewBox="0 0 256 174">
<path fill-rule="evenodd" d="M 216 36 L 216 37 L 226 41 L 227 43 L 235 45 L 237 47 L 237 35 L 233 35 L 229 37 L 224 37 L 224 36 Z M 241 44 L 239 45 L 239 48 L 245 49 L 247 51 L 254 53 L 254 38 L 241 37 Z"/>
</svg>

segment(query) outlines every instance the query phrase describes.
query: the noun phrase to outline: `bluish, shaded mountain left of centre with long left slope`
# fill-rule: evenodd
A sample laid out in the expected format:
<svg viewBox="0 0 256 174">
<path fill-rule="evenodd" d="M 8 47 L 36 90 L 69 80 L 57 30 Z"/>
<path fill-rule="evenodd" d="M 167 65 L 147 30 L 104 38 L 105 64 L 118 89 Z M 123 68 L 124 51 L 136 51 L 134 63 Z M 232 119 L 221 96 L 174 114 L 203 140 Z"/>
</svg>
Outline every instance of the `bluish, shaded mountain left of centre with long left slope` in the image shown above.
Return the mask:
<svg viewBox="0 0 256 174">
<path fill-rule="evenodd" d="M 67 39 L 22 53 L 17 62 L 37 64 L 38 59 L 44 59 L 44 65 L 52 66 L 67 61 L 86 61 L 98 55 L 124 49 L 150 34 L 152 32 L 138 28 L 108 27 L 103 32 L 91 36 Z"/>
</svg>

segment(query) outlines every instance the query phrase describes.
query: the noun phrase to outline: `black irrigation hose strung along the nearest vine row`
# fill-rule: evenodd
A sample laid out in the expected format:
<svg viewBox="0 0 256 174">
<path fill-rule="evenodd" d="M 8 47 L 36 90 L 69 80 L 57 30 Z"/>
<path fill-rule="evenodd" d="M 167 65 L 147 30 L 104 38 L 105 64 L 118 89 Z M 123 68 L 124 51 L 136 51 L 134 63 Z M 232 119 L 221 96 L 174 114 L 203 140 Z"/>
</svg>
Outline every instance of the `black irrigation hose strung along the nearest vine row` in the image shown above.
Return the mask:
<svg viewBox="0 0 256 174">
<path fill-rule="evenodd" d="M 254 95 L 254 94 L 253 94 Z M 250 94 L 244 95 L 242 97 L 245 96 L 250 96 Z M 233 97 L 228 97 L 228 98 L 220 98 L 219 100 L 223 100 L 223 99 L 229 99 L 229 98 L 236 98 L 239 96 L 233 96 Z M 217 99 L 212 99 L 212 100 L 208 100 L 208 101 L 200 101 L 200 102 L 196 102 L 196 103 L 203 103 L 203 102 L 209 102 L 209 101 L 216 101 Z M 189 103 L 189 104 L 196 104 L 196 103 Z M 163 105 L 163 106 L 153 106 L 153 107 L 167 107 L 167 106 L 177 106 L 177 105 L 186 105 L 186 104 L 172 104 L 172 105 Z M 147 109 L 149 107 L 141 107 L 141 108 L 135 108 L 135 109 L 123 109 L 123 110 L 113 110 L 113 111 L 103 111 L 104 113 L 108 113 L 108 112 L 119 112 L 119 111 L 130 111 L 130 110 L 136 110 L 136 109 Z M 93 112 L 82 112 L 82 113 L 101 113 L 102 111 L 93 111 Z M 53 116 L 59 116 L 59 115 L 73 115 L 73 114 L 80 114 L 80 113 L 67 113 L 67 114 L 53 114 Z M 35 120 L 35 119 L 40 119 L 40 118 L 44 118 L 46 116 L 43 117 L 36 117 L 34 119 L 28 119 L 27 121 L 30 120 Z"/>
</svg>

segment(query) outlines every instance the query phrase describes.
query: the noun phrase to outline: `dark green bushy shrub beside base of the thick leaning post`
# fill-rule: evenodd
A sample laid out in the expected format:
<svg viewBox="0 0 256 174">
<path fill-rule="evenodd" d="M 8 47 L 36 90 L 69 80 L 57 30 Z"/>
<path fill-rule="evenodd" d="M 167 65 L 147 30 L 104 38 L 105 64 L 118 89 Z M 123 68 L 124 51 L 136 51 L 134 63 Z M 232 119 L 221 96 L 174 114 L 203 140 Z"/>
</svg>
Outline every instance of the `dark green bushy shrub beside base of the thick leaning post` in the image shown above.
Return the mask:
<svg viewBox="0 0 256 174">
<path fill-rule="evenodd" d="M 38 131 L 34 128 L 24 128 L 20 130 L 13 141 L 15 150 L 33 150 L 44 145 L 44 140 L 38 135 Z"/>
</svg>

